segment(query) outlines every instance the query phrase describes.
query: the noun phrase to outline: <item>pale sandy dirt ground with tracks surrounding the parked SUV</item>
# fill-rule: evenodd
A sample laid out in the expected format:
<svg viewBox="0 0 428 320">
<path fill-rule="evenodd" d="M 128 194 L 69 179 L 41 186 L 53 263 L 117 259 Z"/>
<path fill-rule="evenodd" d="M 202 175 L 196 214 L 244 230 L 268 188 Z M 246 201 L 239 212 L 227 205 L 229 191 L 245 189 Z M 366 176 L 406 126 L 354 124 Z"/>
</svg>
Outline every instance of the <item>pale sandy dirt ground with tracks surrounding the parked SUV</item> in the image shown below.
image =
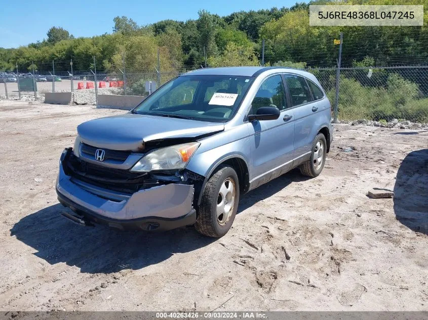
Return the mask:
<svg viewBox="0 0 428 320">
<path fill-rule="evenodd" d="M 0 102 L 0 309 L 428 310 L 428 131 L 336 125 L 319 177 L 243 196 L 218 240 L 74 225 L 60 153 L 122 112 Z"/>
</svg>

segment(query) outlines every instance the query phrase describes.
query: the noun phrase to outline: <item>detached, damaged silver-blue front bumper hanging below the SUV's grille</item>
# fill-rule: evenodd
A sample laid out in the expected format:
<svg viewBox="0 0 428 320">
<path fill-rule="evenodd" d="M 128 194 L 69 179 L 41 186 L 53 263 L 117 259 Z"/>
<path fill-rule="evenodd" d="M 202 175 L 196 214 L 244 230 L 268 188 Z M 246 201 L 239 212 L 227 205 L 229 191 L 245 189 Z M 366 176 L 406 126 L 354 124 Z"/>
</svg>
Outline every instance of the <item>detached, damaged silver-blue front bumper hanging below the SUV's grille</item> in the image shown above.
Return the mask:
<svg viewBox="0 0 428 320">
<path fill-rule="evenodd" d="M 73 182 L 64 172 L 63 159 L 61 156 L 56 192 L 59 202 L 77 214 L 63 214 L 74 222 L 152 231 L 170 230 L 196 221 L 193 185 L 170 183 L 137 191 L 123 200 L 110 200 Z"/>
</svg>

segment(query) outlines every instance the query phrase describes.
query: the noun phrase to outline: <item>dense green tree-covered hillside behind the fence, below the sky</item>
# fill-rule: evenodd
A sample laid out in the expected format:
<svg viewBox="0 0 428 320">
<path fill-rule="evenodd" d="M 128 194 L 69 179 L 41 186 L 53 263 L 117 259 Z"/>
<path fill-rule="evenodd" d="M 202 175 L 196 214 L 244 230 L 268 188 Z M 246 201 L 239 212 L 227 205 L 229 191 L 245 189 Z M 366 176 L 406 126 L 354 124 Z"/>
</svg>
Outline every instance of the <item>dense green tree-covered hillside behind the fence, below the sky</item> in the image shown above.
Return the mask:
<svg viewBox="0 0 428 320">
<path fill-rule="evenodd" d="M 340 4 L 323 0 L 309 4 Z M 423 27 L 309 27 L 306 3 L 291 8 L 240 11 L 225 17 L 199 11 L 196 20 L 163 20 L 140 26 L 128 17 L 115 17 L 111 33 L 74 37 L 52 27 L 43 41 L 16 49 L 0 48 L 0 71 L 38 72 L 93 68 L 133 72 L 185 71 L 207 64 L 216 66 L 259 65 L 262 40 L 265 64 L 297 67 L 334 67 L 337 45 L 343 32 L 342 66 L 420 65 L 428 61 L 428 0 L 367 0 L 364 4 L 424 5 Z M 344 4 L 344 2 L 343 2 Z M 346 4 L 361 4 L 348 0 Z"/>
</svg>

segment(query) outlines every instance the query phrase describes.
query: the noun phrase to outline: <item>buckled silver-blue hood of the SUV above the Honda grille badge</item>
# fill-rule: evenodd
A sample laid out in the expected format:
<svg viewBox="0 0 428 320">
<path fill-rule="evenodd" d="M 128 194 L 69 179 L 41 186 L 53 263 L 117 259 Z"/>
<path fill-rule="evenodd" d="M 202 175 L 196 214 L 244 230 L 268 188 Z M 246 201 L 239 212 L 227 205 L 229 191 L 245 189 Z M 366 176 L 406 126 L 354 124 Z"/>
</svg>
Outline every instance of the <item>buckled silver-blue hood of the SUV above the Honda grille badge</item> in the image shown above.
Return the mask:
<svg viewBox="0 0 428 320">
<path fill-rule="evenodd" d="M 223 123 L 159 116 L 123 114 L 77 126 L 83 143 L 111 150 L 142 151 L 144 143 L 173 138 L 196 138 L 224 130 Z"/>
</svg>

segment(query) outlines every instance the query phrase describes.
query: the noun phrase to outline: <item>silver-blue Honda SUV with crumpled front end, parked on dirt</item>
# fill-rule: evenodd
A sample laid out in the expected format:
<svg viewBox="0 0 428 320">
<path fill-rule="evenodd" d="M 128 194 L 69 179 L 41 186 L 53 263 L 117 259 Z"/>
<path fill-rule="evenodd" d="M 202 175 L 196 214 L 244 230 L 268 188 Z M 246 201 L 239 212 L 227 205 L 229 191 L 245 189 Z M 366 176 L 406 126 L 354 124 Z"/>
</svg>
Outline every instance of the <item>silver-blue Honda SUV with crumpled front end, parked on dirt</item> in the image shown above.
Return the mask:
<svg viewBox="0 0 428 320">
<path fill-rule="evenodd" d="M 317 78 L 278 67 L 191 71 L 77 133 L 56 182 L 65 217 L 121 230 L 194 224 L 210 237 L 227 233 L 242 194 L 295 167 L 319 175 L 333 140 Z"/>
</svg>

